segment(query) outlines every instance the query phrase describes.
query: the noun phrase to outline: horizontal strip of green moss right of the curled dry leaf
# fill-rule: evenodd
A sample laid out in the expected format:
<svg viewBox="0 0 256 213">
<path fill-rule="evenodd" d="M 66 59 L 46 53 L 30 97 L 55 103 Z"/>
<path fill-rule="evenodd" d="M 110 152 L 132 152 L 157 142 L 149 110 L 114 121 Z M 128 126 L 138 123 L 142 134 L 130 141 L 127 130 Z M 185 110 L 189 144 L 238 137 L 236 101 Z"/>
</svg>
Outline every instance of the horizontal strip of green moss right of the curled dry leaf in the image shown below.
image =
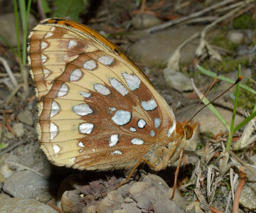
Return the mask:
<svg viewBox="0 0 256 213">
<path fill-rule="evenodd" d="M 248 66 L 249 61 L 248 57 L 240 57 L 238 59 L 233 59 L 232 56 L 223 57 L 221 62 L 212 62 L 210 63 L 209 60 L 206 60 L 201 66 L 204 69 L 209 70 L 221 70 L 222 73 L 229 73 L 233 70 L 236 70 L 238 65 L 241 64 L 242 66 Z"/>
</svg>

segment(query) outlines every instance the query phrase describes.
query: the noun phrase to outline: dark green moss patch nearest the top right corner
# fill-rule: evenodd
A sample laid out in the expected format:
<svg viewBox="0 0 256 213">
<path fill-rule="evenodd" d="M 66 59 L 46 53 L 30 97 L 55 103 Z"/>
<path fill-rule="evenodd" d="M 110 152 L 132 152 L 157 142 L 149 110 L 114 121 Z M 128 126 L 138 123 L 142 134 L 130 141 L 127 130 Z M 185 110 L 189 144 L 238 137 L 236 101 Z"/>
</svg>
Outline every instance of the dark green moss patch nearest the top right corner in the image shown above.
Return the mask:
<svg viewBox="0 0 256 213">
<path fill-rule="evenodd" d="M 252 18 L 252 15 L 242 14 L 239 17 L 235 18 L 233 21 L 233 28 L 235 29 L 254 29 L 255 21 Z"/>
</svg>

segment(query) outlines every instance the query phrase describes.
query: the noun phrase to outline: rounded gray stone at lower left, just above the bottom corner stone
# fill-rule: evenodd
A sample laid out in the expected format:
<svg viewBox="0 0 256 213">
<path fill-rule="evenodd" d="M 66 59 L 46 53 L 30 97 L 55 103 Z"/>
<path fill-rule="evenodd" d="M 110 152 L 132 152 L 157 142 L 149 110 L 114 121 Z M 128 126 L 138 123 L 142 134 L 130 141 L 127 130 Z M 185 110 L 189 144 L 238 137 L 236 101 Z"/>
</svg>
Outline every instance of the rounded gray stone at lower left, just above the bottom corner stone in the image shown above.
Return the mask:
<svg viewBox="0 0 256 213">
<path fill-rule="evenodd" d="M 15 198 L 34 198 L 47 202 L 52 198 L 51 191 L 56 190 L 54 182 L 30 171 L 15 172 L 4 184 L 4 191 Z"/>
</svg>

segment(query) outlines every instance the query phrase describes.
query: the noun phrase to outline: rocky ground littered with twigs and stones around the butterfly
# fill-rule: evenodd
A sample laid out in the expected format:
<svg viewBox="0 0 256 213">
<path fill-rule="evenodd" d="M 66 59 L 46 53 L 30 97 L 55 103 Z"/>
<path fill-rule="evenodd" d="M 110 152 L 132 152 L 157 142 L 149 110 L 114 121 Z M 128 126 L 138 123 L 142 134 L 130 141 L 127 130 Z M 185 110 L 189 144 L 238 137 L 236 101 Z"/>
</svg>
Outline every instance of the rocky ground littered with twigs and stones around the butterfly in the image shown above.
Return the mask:
<svg viewBox="0 0 256 213">
<path fill-rule="evenodd" d="M 222 69 L 222 75 L 233 80 L 237 78 L 238 64 L 241 64 L 244 76 L 242 83 L 252 89 L 256 88 L 256 25 L 244 28 L 245 24 L 242 24 L 243 27 L 239 28 L 234 24 L 236 18 L 243 15 L 254 17 L 255 21 L 254 10 L 248 9 L 241 16 L 229 17 L 215 25 L 206 33 L 205 40 L 209 46 L 201 49 L 202 53 L 199 54 L 201 31 L 216 21 L 217 17 L 223 17 L 225 12 L 216 9 L 208 12 L 204 21 L 193 19 L 149 33 L 147 30 L 151 27 L 167 21 L 168 12 L 175 6 L 172 1 L 163 1 L 164 6 L 156 7 L 156 2 L 148 1 L 143 12 L 135 1 L 103 1 L 94 17 L 88 22 L 82 18 L 80 21 L 109 35 L 110 40 L 126 50 L 172 106 L 177 120 L 188 120 L 199 102 L 190 78 L 194 79 L 198 88 L 212 82 L 212 78 L 200 73 L 195 64 L 213 72 Z M 203 2 L 191 1 L 190 5 L 175 9 L 173 14 L 187 17 L 207 8 Z M 218 7 L 219 11 L 221 8 L 224 6 Z M 29 28 L 37 22 L 31 15 Z M 1 32 L 12 46 L 17 46 L 13 33 L 15 25 L 12 24 L 13 13 L 1 15 Z M 181 48 L 180 57 L 174 57 L 181 43 L 195 33 L 199 33 L 198 37 Z M 17 59 L 11 50 L 0 46 L 0 55 L 11 67 L 18 83 L 21 83 Z M 228 133 L 224 125 L 209 109 L 201 111 L 194 118 L 194 122 L 200 124 L 199 134 L 194 143 L 186 147 L 190 152 L 185 153 L 178 178 L 180 191 L 176 191 L 174 199 L 170 198 L 177 163 L 157 174 L 153 174 L 148 167 L 139 167 L 129 183 L 114 189 L 129 171 L 80 172 L 53 166 L 46 159 L 37 142 L 37 99 L 32 80 L 29 79 L 28 97 L 24 97 L 22 89 L 12 96 L 15 88 L 8 83 L 9 76 L 5 67 L 1 66 L 0 70 L 0 212 L 61 212 L 57 209 L 61 206 L 66 212 L 83 213 L 217 212 L 213 208 L 231 212 L 234 198 L 232 193 L 238 190 L 236 186 L 240 183 L 238 179 L 242 179 L 243 169 L 248 181 L 239 198 L 239 212 L 256 210 L 255 123 L 249 123 L 233 137 L 236 145 L 242 140 L 252 141 L 243 149 L 233 150 L 242 159 L 240 162 L 232 153 L 225 152 Z M 208 95 L 209 99 L 213 99 L 229 85 L 225 81 L 217 82 Z M 215 102 L 217 110 L 228 122 L 232 118 L 233 92 L 225 93 Z M 241 91 L 235 124 L 244 120 L 248 116 L 247 112 L 251 112 L 256 102 L 255 97 L 255 94 Z"/>
</svg>

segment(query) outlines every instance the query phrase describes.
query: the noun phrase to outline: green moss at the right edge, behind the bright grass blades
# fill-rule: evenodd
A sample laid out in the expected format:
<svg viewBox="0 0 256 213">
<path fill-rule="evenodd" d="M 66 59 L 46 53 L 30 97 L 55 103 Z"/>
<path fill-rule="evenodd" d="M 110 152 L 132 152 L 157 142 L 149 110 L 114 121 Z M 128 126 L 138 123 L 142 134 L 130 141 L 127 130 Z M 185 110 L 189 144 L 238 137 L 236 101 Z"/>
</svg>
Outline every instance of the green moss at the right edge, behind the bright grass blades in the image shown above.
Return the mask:
<svg viewBox="0 0 256 213">
<path fill-rule="evenodd" d="M 254 83 L 247 79 L 244 83 L 245 85 L 253 88 Z M 244 109 L 253 109 L 255 105 L 255 95 L 245 89 L 239 89 L 239 96 L 238 96 L 238 106 Z"/>
</svg>

